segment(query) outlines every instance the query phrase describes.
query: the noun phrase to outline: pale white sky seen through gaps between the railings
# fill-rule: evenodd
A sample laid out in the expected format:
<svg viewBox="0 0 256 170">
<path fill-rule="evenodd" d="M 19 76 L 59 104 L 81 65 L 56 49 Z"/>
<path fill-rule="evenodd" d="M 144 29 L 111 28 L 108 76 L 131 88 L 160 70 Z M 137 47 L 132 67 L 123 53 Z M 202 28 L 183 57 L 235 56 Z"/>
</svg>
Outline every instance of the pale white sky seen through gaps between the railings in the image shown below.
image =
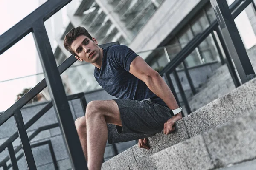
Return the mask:
<svg viewBox="0 0 256 170">
<path fill-rule="evenodd" d="M 234 0 L 228 0 L 229 4 Z M 0 35 L 14 26 L 36 8 L 38 0 L 0 0 Z M 245 47 L 256 44 L 256 37 L 245 11 L 235 20 Z M 16 95 L 24 88 L 34 87 L 36 77 L 28 77 L 2 82 L 8 79 L 24 77 L 36 72 L 38 55 L 32 33 L 28 34 L 5 53 L 0 55 L 0 111 L 5 111 L 15 103 Z"/>
</svg>

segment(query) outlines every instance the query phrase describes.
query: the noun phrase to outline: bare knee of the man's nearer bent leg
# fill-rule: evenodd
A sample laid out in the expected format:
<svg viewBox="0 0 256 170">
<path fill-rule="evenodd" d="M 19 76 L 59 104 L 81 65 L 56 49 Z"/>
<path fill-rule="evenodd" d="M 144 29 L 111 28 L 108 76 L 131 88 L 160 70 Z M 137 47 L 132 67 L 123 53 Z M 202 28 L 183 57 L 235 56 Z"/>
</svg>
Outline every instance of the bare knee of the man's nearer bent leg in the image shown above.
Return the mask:
<svg viewBox="0 0 256 170">
<path fill-rule="evenodd" d="M 91 119 L 95 116 L 101 115 L 101 103 L 100 101 L 91 101 L 87 104 L 85 117 L 86 119 Z"/>
</svg>

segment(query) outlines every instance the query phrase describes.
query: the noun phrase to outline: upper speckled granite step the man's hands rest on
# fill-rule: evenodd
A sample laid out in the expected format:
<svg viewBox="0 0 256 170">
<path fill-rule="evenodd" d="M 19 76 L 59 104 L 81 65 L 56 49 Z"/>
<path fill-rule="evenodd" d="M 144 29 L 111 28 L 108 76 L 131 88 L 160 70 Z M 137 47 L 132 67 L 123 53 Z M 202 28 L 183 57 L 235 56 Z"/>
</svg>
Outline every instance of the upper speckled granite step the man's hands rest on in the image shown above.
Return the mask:
<svg viewBox="0 0 256 170">
<path fill-rule="evenodd" d="M 102 169 L 129 170 L 129 165 L 143 161 L 160 150 L 255 111 L 255 101 L 256 79 L 253 79 L 176 122 L 177 132 L 167 136 L 162 132 L 149 138 L 150 150 L 141 149 L 136 144 L 103 163 Z"/>
</svg>

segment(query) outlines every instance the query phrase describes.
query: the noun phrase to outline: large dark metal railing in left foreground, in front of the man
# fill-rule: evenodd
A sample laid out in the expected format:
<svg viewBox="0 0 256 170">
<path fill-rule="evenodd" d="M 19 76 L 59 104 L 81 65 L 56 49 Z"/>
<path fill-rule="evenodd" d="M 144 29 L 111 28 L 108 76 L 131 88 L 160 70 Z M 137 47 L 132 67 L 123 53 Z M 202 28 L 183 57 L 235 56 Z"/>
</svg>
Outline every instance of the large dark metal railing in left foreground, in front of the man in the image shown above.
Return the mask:
<svg viewBox="0 0 256 170">
<path fill-rule="evenodd" d="M 72 168 L 75 170 L 87 169 L 84 153 L 81 148 L 78 134 L 73 122 L 70 107 L 67 102 L 67 96 L 61 82 L 60 74 L 69 68 L 76 58 L 70 56 L 59 67 L 55 62 L 55 57 L 51 49 L 51 45 L 44 27 L 44 21 L 63 8 L 71 0 L 48 0 L 41 5 L 15 26 L 10 28 L 0 36 L 0 55 L 8 50 L 12 45 L 21 40 L 30 32 L 33 33 L 35 44 L 38 49 L 38 54 L 44 68 L 45 79 L 32 88 L 27 94 L 20 98 L 14 105 L 0 115 L 0 125 L 3 125 L 11 116 L 14 116 L 17 126 L 17 134 L 20 136 L 23 154 L 26 160 L 28 169 L 35 170 L 35 160 L 32 155 L 31 146 L 26 133 L 26 126 L 20 109 L 26 105 L 32 98 L 41 92 L 47 85 L 49 88 L 52 104 L 55 107 L 55 112 L 58 116 L 58 123 L 61 131 L 64 134 L 64 141 L 67 147 Z M 110 43 L 107 45 L 116 44 Z M 119 44 L 119 42 L 117 43 Z M 106 45 L 102 45 L 104 48 Z M 49 107 L 48 105 L 48 107 Z M 26 124 L 27 125 L 27 124 Z M 7 146 L 8 147 L 8 146 Z M 12 147 L 12 146 L 10 146 Z"/>
</svg>

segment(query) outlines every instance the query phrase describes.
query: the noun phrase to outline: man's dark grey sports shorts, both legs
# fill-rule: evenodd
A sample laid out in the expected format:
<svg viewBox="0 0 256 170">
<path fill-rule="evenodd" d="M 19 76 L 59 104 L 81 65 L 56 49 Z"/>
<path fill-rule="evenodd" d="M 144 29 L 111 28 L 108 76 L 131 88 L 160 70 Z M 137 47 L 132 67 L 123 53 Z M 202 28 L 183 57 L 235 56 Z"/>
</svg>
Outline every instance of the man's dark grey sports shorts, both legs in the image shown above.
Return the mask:
<svg viewBox="0 0 256 170">
<path fill-rule="evenodd" d="M 164 123 L 170 119 L 170 109 L 154 103 L 150 98 L 137 101 L 114 99 L 122 120 L 122 127 L 108 124 L 108 143 L 143 139 L 163 130 Z"/>
</svg>

